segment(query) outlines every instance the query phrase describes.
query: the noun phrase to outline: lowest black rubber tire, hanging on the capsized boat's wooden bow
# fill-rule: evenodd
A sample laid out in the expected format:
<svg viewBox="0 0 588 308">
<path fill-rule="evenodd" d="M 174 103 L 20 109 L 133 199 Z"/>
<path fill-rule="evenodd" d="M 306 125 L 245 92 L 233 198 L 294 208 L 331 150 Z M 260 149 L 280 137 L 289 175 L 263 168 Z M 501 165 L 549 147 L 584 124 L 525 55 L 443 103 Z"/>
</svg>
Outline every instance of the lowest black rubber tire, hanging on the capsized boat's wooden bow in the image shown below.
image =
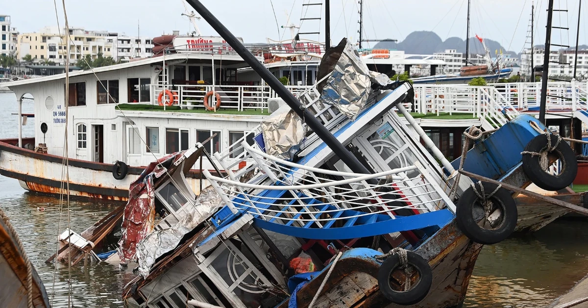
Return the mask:
<svg viewBox="0 0 588 308">
<path fill-rule="evenodd" d="M 420 280 L 416 285 L 411 286 L 408 291 L 396 291 L 390 286 L 390 275 L 392 271 L 400 266 L 400 258 L 397 255 L 389 256 L 380 270 L 377 272 L 377 283 L 380 287 L 380 292 L 389 299 L 391 302 L 400 305 L 412 305 L 423 300 L 433 283 L 433 272 L 429 263 L 422 256 L 417 255 L 414 252 L 407 252 L 408 263 L 419 271 Z"/>
</svg>

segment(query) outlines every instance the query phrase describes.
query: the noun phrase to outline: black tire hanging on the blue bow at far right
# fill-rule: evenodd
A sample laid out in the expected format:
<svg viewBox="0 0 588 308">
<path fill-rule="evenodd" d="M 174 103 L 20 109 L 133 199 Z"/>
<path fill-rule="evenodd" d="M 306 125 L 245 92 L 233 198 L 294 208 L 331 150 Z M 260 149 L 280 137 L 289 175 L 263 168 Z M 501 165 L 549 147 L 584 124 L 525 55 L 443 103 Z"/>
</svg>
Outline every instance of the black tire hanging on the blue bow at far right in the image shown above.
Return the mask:
<svg viewBox="0 0 588 308">
<path fill-rule="evenodd" d="M 557 142 L 557 136 L 552 134 L 550 138 L 552 144 Z M 545 147 L 547 147 L 547 137 L 539 135 L 531 139 L 524 150 L 539 153 Z M 570 145 L 563 140 L 552 154 L 557 155 L 562 162 L 562 171 L 558 175 L 551 175 L 543 171 L 539 165 L 539 156 L 531 154 L 523 154 L 523 171 L 529 180 L 538 187 L 548 191 L 558 191 L 572 184 L 578 173 L 578 161 Z"/>
</svg>

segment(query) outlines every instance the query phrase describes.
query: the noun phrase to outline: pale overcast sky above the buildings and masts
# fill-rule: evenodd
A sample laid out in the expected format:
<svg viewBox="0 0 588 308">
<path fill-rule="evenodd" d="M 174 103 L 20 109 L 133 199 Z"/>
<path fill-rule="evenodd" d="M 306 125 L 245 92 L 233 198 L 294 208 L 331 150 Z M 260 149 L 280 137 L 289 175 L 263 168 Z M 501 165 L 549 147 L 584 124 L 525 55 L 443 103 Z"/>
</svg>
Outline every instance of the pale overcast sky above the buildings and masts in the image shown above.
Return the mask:
<svg viewBox="0 0 588 308">
<path fill-rule="evenodd" d="M 64 25 L 61 0 L 59 22 Z M 289 39 L 283 28 L 290 20 L 300 24 L 300 17 L 318 17 L 322 6 L 310 6 L 303 12 L 303 3 L 322 0 L 201 0 L 203 4 L 236 36 L 245 42 L 265 42 L 265 38 Z M 105 30 L 141 36 L 157 36 L 179 30 L 191 31 L 183 0 L 65 0 L 69 25 L 86 30 Z M 272 9 L 273 2 L 273 9 Z M 532 0 L 472 0 L 470 36 L 497 40 L 505 48 L 520 52 L 529 29 Z M 443 40 L 451 36 L 466 37 L 467 0 L 364 0 L 365 36 L 371 39 L 402 40 L 412 31 L 435 31 Z M 534 0 L 536 9 L 536 44 L 544 42 L 547 0 Z M 554 8 L 569 12 L 554 13 L 554 26 L 569 26 L 570 31 L 554 31 L 552 43 L 574 45 L 578 0 L 555 0 Z M 588 4 L 582 8 L 580 44 L 587 43 Z M 308 7 L 308 6 L 307 6 Z M 190 8 L 190 7 L 189 7 Z M 190 8 L 192 10 L 192 8 Z M 274 12 L 275 11 L 275 15 Z M 0 14 L 11 15 L 12 26 L 19 32 L 37 32 L 44 26 L 56 25 L 52 0 L 0 0 Z M 276 18 L 278 20 L 276 25 Z M 358 1 L 331 0 L 332 40 L 343 37 L 358 39 Z M 320 23 L 322 23 L 321 21 Z M 215 32 L 203 19 L 198 21 L 203 35 Z M 303 21 L 300 32 L 316 32 L 318 21 Z M 320 24 L 321 40 L 324 25 Z M 561 32 L 561 34 L 560 34 Z M 315 39 L 316 35 L 302 38 Z M 372 45 L 374 43 L 371 43 Z M 510 48 L 509 48 L 510 46 Z"/>
</svg>

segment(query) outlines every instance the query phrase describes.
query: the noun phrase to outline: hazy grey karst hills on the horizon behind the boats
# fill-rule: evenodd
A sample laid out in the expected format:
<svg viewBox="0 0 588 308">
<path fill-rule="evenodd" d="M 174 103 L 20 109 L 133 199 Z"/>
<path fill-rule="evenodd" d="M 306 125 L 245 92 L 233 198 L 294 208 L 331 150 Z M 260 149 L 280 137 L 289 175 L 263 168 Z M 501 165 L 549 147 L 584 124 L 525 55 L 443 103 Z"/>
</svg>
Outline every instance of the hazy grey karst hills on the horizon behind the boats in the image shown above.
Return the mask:
<svg viewBox="0 0 588 308">
<path fill-rule="evenodd" d="M 507 52 L 507 50 L 495 40 L 486 38 L 484 38 L 484 40 L 492 56 L 495 56 L 495 51 L 500 49 L 502 49 L 503 53 L 517 55 L 516 52 Z M 426 55 L 442 52 L 445 49 L 457 49 L 457 52 L 465 53 L 466 41 L 457 37 L 448 38 L 443 41 L 435 32 L 415 31 L 406 36 L 406 39 L 402 40 L 402 42 L 379 42 L 373 46 L 373 48 L 404 50 L 406 53 Z M 482 43 L 480 43 L 475 37 L 470 38 L 470 53 L 478 53 L 480 55 L 485 53 Z"/>
</svg>

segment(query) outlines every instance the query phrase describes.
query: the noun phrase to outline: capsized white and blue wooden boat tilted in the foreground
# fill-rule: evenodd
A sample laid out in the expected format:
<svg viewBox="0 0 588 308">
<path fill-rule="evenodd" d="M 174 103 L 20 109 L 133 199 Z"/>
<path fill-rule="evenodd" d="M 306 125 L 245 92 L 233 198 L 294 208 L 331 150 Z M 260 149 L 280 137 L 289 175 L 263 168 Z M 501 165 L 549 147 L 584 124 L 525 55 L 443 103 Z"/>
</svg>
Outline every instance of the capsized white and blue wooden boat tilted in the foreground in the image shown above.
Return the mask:
<svg viewBox="0 0 588 308">
<path fill-rule="evenodd" d="M 352 172 L 306 131 L 304 119 L 281 107 L 214 154 L 228 175 L 204 171 L 211 187 L 183 205 L 191 211 L 208 205 L 208 214 L 152 232 L 136 245 L 141 276 L 125 287 L 127 303 L 453 307 L 463 302 L 482 244 L 457 228 L 449 197 L 453 182 L 436 162 L 445 158 L 429 154 L 412 131 L 424 135 L 422 129 L 406 126 L 393 111 L 410 117 L 402 101 L 410 100 L 412 87 L 370 73 L 347 42 L 329 52 L 323 61 L 334 57 L 336 64 L 319 80 L 320 90 L 299 99 L 372 173 Z M 467 193 L 476 201 L 470 183 L 463 177 L 453 188 L 456 197 Z M 506 189 L 483 195 L 501 206 L 492 211 L 497 224 L 487 231 L 499 233 L 487 242 L 500 241 L 514 228 L 502 222 L 512 222 L 513 207 L 516 222 L 516 206 Z M 211 205 L 215 211 L 208 210 Z M 168 241 L 170 235 L 179 241 Z"/>
</svg>

